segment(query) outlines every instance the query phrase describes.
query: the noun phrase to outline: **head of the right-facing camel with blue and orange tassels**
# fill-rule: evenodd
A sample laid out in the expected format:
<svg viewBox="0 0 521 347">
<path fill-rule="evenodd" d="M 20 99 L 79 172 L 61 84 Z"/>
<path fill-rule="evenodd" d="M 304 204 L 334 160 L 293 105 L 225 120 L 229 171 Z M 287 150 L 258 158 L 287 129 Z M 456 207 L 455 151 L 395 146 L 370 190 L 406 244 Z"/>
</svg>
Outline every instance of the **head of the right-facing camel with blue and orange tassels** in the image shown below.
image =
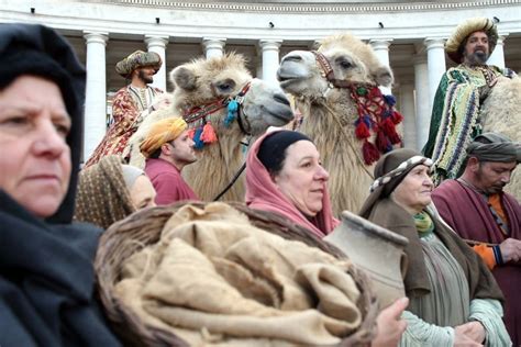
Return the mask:
<svg viewBox="0 0 521 347">
<path fill-rule="evenodd" d="M 170 80 L 175 86 L 174 108 L 181 113 L 221 107 L 202 121 L 211 121 L 218 137 L 236 128 L 244 134 L 258 135 L 268 126 L 287 124 L 293 116 L 282 90 L 253 79 L 244 57 L 235 53 L 181 65 L 170 72 Z M 230 121 L 225 122 L 232 102 L 237 102 L 233 126 Z M 224 128 L 225 125 L 229 128 Z"/>
</svg>

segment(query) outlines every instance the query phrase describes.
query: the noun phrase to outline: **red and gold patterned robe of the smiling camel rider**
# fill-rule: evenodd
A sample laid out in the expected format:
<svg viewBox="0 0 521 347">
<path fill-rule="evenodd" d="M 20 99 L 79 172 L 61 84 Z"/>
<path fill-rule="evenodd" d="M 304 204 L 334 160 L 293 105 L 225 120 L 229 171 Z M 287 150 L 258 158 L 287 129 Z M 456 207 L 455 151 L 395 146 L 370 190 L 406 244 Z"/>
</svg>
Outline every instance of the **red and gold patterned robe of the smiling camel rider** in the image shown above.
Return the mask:
<svg viewBox="0 0 521 347">
<path fill-rule="evenodd" d="M 147 87 L 147 91 L 156 97 L 163 91 L 158 88 Z M 140 102 L 140 97 L 130 86 L 121 88 L 114 96 L 112 116 L 114 122 L 110 125 L 101 143 L 95 149 L 86 167 L 98 163 L 108 155 L 121 155 L 126 147 L 129 138 L 136 132 L 143 116 L 148 114 L 146 102 Z"/>
</svg>

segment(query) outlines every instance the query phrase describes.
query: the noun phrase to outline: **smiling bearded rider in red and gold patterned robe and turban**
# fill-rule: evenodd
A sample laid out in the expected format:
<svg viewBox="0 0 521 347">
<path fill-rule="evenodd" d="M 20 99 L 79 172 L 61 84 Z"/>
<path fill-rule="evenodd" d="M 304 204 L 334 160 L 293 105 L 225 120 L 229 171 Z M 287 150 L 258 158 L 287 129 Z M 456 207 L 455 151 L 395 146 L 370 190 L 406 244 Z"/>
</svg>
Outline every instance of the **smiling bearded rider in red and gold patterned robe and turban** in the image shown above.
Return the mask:
<svg viewBox="0 0 521 347">
<path fill-rule="evenodd" d="M 154 81 L 154 75 L 160 66 L 162 59 L 157 53 L 143 51 L 132 53 L 115 65 L 115 71 L 130 80 L 130 85 L 115 93 L 112 102 L 113 123 L 86 167 L 104 156 L 121 155 L 143 119 L 157 110 L 159 105 L 155 103 L 155 99 L 163 91 L 148 85 Z"/>
</svg>

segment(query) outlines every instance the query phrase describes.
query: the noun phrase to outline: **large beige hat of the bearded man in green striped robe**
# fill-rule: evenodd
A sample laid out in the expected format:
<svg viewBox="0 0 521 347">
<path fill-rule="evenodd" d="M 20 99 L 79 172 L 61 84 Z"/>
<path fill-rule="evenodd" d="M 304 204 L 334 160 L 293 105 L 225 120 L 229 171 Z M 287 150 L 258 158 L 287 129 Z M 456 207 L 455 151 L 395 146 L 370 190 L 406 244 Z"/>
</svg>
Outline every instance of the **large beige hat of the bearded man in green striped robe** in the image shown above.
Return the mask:
<svg viewBox="0 0 521 347">
<path fill-rule="evenodd" d="M 498 29 L 496 24 L 488 18 L 472 18 L 457 25 L 445 43 L 445 51 L 453 61 L 458 64 L 463 61 L 463 51 L 461 46 L 468 35 L 478 31 L 484 31 L 487 34 L 489 54 L 492 54 L 498 42 Z"/>
</svg>

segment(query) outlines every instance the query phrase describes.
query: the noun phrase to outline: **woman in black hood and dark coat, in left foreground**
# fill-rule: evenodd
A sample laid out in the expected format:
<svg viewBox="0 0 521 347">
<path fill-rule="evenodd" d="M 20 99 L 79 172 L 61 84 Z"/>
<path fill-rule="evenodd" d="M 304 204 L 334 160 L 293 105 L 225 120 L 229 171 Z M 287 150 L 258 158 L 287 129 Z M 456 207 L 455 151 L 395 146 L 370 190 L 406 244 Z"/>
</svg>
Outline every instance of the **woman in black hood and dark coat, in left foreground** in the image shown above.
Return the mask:
<svg viewBox="0 0 521 347">
<path fill-rule="evenodd" d="M 85 69 L 41 25 L 0 25 L 0 346 L 118 346 L 95 300 L 100 230 L 71 224 Z"/>
</svg>

